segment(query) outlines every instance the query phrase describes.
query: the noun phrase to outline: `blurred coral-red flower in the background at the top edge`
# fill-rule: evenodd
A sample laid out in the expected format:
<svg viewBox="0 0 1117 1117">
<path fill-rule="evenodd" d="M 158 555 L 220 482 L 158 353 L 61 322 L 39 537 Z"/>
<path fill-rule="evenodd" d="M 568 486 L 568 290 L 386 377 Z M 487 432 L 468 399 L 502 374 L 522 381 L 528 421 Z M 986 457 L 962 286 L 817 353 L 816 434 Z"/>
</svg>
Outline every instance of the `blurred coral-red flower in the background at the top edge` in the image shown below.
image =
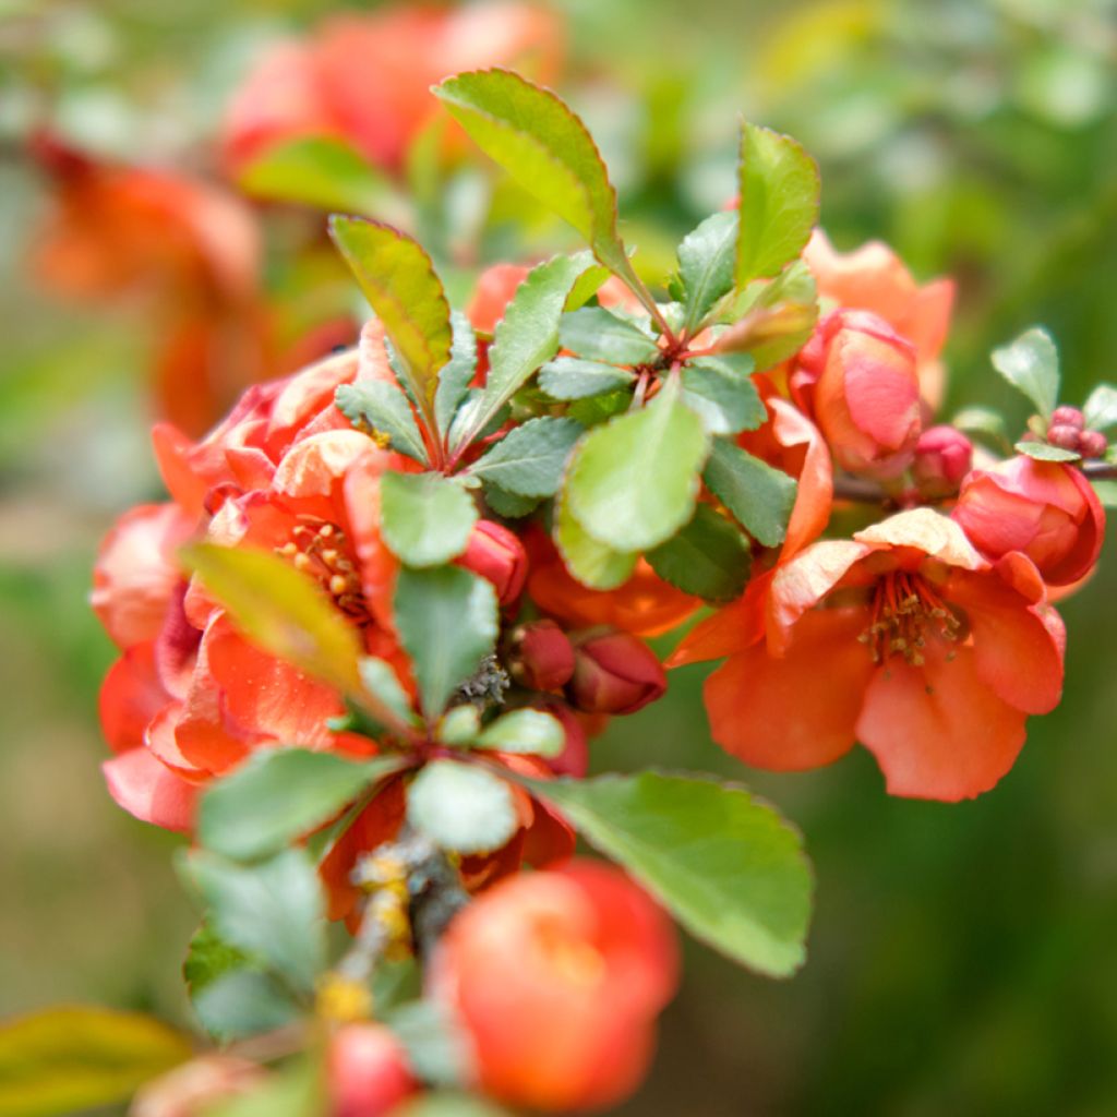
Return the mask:
<svg viewBox="0 0 1117 1117">
<path fill-rule="evenodd" d="M 548 82 L 562 49 L 557 17 L 522 3 L 335 16 L 308 40 L 274 48 L 248 75 L 226 118 L 226 166 L 236 174 L 278 142 L 325 135 L 399 171 L 435 118 L 430 86 L 459 70 L 513 64 Z"/>
</svg>

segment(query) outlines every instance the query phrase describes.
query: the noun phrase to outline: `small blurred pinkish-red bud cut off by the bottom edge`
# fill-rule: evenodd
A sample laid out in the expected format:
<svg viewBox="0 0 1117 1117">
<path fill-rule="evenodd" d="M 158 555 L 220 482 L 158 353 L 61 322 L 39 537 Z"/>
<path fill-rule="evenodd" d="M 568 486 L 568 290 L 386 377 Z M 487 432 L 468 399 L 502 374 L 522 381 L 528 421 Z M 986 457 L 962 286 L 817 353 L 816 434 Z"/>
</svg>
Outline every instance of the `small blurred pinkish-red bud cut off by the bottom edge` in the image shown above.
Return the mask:
<svg viewBox="0 0 1117 1117">
<path fill-rule="evenodd" d="M 346 1024 L 330 1043 L 333 1117 L 383 1117 L 416 1088 L 407 1057 L 382 1024 Z"/>
</svg>

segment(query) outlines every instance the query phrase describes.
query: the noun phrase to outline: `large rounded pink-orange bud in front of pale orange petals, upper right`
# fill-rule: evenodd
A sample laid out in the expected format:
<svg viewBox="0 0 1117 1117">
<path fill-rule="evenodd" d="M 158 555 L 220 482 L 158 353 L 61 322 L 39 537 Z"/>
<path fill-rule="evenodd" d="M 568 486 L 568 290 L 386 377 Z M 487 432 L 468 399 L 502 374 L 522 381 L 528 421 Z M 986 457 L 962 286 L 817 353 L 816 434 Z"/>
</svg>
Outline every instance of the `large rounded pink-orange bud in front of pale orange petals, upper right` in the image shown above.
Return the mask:
<svg viewBox="0 0 1117 1117">
<path fill-rule="evenodd" d="M 920 430 L 916 351 L 884 318 L 834 311 L 800 352 L 791 386 L 842 469 L 887 480 L 911 464 Z"/>
</svg>

